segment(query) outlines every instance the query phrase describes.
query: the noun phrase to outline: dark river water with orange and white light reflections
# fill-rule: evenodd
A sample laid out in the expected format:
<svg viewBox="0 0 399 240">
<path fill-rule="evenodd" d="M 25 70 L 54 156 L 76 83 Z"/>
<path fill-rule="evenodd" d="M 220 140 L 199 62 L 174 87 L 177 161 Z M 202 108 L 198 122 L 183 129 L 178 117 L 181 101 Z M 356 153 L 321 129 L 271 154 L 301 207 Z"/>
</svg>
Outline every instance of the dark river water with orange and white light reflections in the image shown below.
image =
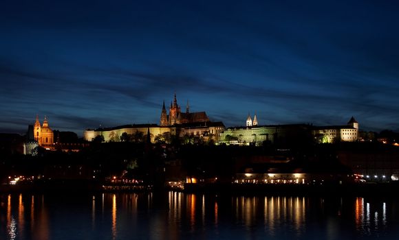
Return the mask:
<svg viewBox="0 0 399 240">
<path fill-rule="evenodd" d="M 0 195 L 0 239 L 399 239 L 399 200 Z"/>
</svg>

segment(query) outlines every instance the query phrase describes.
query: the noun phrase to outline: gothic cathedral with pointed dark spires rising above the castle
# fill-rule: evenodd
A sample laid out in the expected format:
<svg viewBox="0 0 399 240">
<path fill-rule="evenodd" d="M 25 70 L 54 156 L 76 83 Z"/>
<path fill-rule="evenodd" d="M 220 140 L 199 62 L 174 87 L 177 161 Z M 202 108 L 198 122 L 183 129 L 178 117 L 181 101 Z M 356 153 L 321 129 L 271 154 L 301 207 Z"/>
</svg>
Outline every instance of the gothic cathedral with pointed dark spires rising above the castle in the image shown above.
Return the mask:
<svg viewBox="0 0 399 240">
<path fill-rule="evenodd" d="M 208 122 L 209 118 L 206 115 L 206 112 L 190 112 L 190 108 L 186 106 L 186 112 L 182 112 L 180 110 L 180 106 L 177 104 L 176 94 L 173 99 L 173 103 L 171 102 L 171 107 L 169 108 L 169 115 L 166 113 L 165 101 L 162 106 L 161 112 L 161 121 L 160 125 L 175 125 L 182 123 L 200 123 L 200 122 Z"/>
</svg>

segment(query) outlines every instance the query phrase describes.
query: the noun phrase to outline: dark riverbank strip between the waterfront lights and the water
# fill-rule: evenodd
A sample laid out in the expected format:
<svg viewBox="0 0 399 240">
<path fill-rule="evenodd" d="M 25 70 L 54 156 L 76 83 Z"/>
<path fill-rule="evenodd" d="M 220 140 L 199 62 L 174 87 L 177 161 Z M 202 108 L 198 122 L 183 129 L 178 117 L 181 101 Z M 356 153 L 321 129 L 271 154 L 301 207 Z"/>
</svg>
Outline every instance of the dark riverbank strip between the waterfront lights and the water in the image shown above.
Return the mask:
<svg viewBox="0 0 399 240">
<path fill-rule="evenodd" d="M 398 196 L 399 182 L 352 184 L 184 184 L 184 189 L 154 188 L 151 185 L 116 185 L 94 181 L 47 181 L 34 184 L 3 184 L 0 193 L 98 193 L 139 191 L 181 191 L 228 195 L 335 195 L 335 196 Z"/>
</svg>

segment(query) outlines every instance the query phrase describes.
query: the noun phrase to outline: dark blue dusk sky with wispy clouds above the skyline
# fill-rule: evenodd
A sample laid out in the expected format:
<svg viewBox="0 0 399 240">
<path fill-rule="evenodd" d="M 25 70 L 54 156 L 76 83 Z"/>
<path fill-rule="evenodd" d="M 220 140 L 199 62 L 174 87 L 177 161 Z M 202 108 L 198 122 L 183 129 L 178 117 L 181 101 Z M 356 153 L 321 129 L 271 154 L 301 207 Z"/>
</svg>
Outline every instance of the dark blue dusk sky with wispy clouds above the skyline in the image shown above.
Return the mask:
<svg viewBox="0 0 399 240">
<path fill-rule="evenodd" d="M 0 132 L 159 123 L 399 130 L 398 1 L 1 1 Z"/>
</svg>

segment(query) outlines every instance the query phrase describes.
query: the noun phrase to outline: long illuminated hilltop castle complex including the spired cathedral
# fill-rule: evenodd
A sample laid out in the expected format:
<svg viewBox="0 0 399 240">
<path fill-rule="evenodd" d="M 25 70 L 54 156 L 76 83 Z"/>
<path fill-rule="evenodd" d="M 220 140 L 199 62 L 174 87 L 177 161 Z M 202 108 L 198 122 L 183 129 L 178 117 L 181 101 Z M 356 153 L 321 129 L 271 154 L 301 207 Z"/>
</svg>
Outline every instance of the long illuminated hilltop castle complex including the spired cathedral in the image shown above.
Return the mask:
<svg viewBox="0 0 399 240">
<path fill-rule="evenodd" d="M 154 143 L 165 134 L 170 136 L 200 136 L 212 139 L 217 144 L 262 145 L 264 143 L 286 143 L 312 138 L 320 143 L 334 141 L 358 141 L 358 122 L 352 117 L 346 125 L 314 126 L 309 124 L 259 125 L 257 116 L 253 120 L 248 114 L 246 124 L 239 127 L 225 128 L 222 122 L 209 120 L 206 112 L 191 112 L 186 105 L 182 112 L 177 104 L 176 95 L 166 110 L 162 105 L 160 124 L 120 125 L 113 128 L 89 129 L 84 133 L 86 141 L 93 141 L 101 136 L 103 141 L 121 141 L 122 134 L 149 135 Z"/>
</svg>

